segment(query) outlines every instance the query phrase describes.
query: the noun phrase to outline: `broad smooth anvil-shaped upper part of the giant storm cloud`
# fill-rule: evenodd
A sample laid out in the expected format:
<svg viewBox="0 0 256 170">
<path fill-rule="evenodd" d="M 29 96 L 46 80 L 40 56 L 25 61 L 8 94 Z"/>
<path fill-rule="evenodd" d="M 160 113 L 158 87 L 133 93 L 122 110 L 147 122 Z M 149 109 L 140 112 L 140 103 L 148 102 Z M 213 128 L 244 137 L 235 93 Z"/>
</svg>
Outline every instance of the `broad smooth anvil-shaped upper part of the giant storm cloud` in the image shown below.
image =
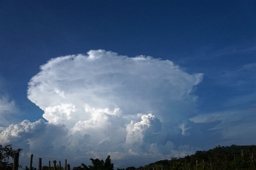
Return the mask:
<svg viewBox="0 0 256 170">
<path fill-rule="evenodd" d="M 191 92 L 201 79 L 202 74 L 185 73 L 168 60 L 130 58 L 98 50 L 89 51 L 88 56 L 57 57 L 42 65 L 29 82 L 28 98 L 44 110 L 47 121 L 58 122 L 58 117 L 47 117 L 52 112 L 46 108 L 64 105 L 76 106 L 77 115 L 82 117 L 71 114 L 74 116 L 69 118 L 77 121 L 90 118 L 85 105 L 118 107 L 123 115 L 154 111 L 156 117 L 164 117 L 166 111 L 172 114 L 180 110 L 179 105 L 185 110 L 195 104 Z M 169 102 L 168 108 L 162 107 L 163 102 Z M 186 114 L 184 110 L 180 114 Z"/>
</svg>

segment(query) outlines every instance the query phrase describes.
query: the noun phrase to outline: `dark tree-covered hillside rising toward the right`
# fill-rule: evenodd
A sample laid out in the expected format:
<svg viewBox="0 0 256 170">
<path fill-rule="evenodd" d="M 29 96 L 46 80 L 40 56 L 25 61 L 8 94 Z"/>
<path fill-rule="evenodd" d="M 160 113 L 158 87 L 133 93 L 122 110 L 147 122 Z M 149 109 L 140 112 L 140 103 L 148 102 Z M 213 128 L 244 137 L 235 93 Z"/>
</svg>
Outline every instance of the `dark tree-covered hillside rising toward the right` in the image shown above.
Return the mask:
<svg viewBox="0 0 256 170">
<path fill-rule="evenodd" d="M 185 169 L 256 169 L 256 146 L 217 146 L 209 151 L 196 151 L 193 155 L 171 160 L 159 160 L 144 167 L 117 168 L 117 170 L 185 170 Z"/>
</svg>

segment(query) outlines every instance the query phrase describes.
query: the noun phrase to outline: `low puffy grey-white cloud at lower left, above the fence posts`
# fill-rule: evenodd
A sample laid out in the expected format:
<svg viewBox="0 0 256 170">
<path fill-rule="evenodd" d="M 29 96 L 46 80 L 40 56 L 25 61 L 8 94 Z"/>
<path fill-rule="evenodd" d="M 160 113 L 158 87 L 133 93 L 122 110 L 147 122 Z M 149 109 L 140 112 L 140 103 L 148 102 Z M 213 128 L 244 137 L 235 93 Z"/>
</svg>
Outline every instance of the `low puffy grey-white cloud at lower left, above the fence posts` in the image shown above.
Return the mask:
<svg viewBox="0 0 256 170">
<path fill-rule="evenodd" d="M 24 120 L 12 124 L 0 134 L 2 145 L 13 144 L 13 148 L 22 148 L 20 163 L 29 165 L 27 156 L 34 154 L 34 159 L 42 157 L 44 163 L 48 157 L 66 157 L 65 145 L 68 141 L 68 130 L 64 125 L 46 123 L 42 119 L 36 122 Z M 69 158 L 70 159 L 70 158 Z M 50 159 L 51 160 L 51 159 Z"/>
</svg>

